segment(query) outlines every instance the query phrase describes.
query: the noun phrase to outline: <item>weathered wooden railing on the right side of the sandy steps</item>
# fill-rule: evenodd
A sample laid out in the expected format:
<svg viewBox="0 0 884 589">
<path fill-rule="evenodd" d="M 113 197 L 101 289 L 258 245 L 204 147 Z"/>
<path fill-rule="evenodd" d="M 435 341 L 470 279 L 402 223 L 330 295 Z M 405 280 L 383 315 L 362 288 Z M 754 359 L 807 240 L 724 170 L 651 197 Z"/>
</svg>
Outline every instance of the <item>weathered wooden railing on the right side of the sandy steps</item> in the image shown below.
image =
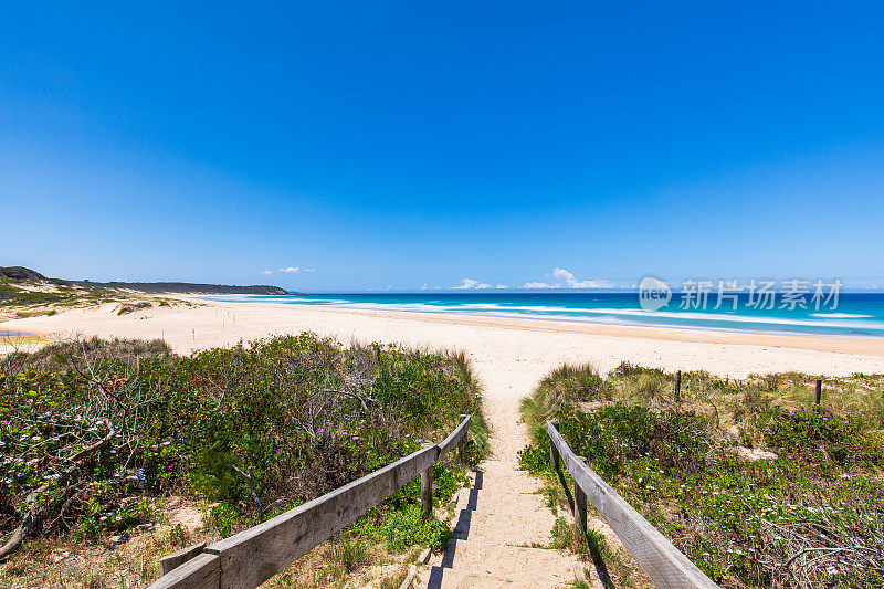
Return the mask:
<svg viewBox="0 0 884 589">
<path fill-rule="evenodd" d="M 617 491 L 585 464 L 568 446 L 558 430 L 558 423 L 546 422 L 549 433 L 549 457 L 559 472 L 561 463 L 573 478 L 575 519 L 580 532 L 587 533 L 587 497 L 592 501 L 602 518 L 611 526 L 617 537 L 642 567 L 651 581 L 664 589 L 703 588 L 717 589 L 706 575 L 670 540 L 632 508 Z"/>
</svg>

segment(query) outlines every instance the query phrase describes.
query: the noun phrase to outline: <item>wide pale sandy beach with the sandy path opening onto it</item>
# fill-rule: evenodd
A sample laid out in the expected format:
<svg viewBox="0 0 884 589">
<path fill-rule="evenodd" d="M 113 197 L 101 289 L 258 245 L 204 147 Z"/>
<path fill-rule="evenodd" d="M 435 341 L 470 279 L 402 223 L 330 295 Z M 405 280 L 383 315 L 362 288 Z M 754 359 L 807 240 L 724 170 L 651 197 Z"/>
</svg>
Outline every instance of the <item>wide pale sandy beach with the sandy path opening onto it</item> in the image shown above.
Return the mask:
<svg viewBox="0 0 884 589">
<path fill-rule="evenodd" d="M 179 299 L 186 297 L 178 296 Z M 561 362 L 609 371 L 622 361 L 667 370 L 705 369 L 729 377 L 798 370 L 843 376 L 884 372 L 884 339 L 613 327 L 470 315 L 377 312 L 187 298 L 193 306 L 152 307 L 117 315 L 115 304 L 4 322 L 50 339 L 76 336 L 162 338 L 179 354 L 232 346 L 273 334 L 312 330 L 343 343 L 401 343 L 465 350 L 485 387 L 485 408 L 498 459 L 524 445 L 518 399 Z M 8 345 L 0 345 L 8 351 Z"/>
</svg>

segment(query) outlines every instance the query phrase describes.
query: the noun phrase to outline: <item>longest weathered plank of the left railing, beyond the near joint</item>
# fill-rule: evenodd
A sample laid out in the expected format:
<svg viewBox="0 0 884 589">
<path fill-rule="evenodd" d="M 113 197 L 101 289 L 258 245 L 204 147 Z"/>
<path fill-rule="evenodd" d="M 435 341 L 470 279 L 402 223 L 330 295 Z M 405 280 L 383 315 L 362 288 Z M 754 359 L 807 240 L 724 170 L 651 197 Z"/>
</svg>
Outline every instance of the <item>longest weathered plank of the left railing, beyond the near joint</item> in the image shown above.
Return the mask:
<svg viewBox="0 0 884 589">
<path fill-rule="evenodd" d="M 206 550 L 221 559 L 220 587 L 257 587 L 368 513 L 438 459 L 439 446 L 418 450 L 358 481 L 212 544 Z"/>
</svg>

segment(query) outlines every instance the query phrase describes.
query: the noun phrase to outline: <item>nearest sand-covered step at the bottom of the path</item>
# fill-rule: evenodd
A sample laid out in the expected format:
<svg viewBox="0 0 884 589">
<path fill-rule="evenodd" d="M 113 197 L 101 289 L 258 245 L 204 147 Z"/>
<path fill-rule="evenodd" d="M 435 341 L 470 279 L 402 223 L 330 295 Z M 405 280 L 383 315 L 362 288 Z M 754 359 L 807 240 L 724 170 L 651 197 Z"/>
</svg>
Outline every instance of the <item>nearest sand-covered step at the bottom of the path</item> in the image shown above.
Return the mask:
<svg viewBox="0 0 884 589">
<path fill-rule="evenodd" d="M 452 540 L 442 555 L 441 566 L 496 577 L 528 577 L 548 585 L 575 580 L 573 557 L 568 553 L 475 540 Z"/>
</svg>

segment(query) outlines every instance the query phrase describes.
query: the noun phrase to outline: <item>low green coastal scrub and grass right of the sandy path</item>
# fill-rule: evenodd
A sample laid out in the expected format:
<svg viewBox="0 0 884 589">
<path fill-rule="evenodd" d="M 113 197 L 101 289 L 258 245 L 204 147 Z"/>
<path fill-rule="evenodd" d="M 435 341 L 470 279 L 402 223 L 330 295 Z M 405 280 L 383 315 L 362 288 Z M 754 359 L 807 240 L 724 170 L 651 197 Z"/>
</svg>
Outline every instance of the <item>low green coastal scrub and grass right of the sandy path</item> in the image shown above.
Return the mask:
<svg viewBox="0 0 884 589">
<path fill-rule="evenodd" d="M 882 587 L 884 375 L 824 378 L 819 407 L 815 378 L 685 372 L 676 399 L 671 372 L 566 365 L 522 402 L 532 444 L 519 461 L 567 505 L 544 429 L 558 420 L 571 449 L 722 587 Z M 585 550 L 641 585 L 625 555 L 590 536 Z"/>
</svg>

